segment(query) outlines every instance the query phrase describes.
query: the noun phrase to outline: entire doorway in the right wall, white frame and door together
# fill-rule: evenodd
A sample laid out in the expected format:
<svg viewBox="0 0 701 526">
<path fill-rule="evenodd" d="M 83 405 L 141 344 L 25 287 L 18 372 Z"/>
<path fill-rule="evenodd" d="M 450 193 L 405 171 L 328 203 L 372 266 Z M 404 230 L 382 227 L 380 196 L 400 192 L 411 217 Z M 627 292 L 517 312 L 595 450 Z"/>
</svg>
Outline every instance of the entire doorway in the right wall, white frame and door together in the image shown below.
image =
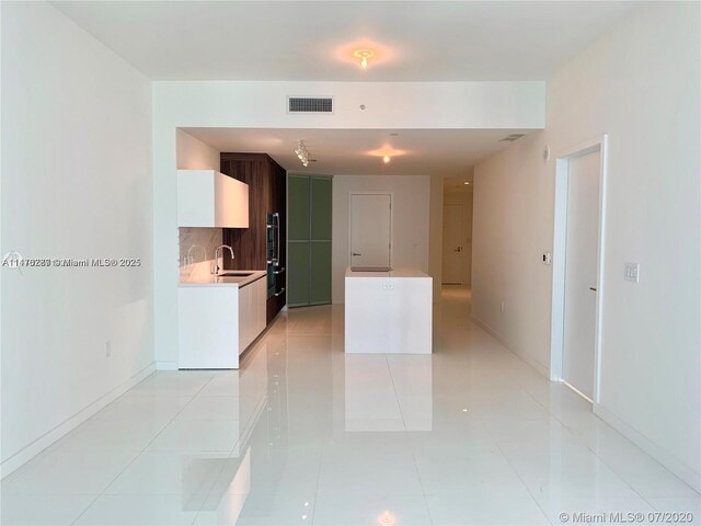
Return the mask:
<svg viewBox="0 0 701 526">
<path fill-rule="evenodd" d="M 550 379 L 599 399 L 606 136 L 558 157 Z"/>
</svg>

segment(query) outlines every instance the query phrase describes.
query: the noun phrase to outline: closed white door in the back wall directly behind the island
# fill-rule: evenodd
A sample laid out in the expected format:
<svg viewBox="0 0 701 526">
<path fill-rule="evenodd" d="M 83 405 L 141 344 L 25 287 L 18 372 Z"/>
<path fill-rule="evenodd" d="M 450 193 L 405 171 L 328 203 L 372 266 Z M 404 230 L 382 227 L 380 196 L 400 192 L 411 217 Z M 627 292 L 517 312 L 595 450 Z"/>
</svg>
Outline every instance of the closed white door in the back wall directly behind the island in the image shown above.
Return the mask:
<svg viewBox="0 0 701 526">
<path fill-rule="evenodd" d="M 392 196 L 350 195 L 350 266 L 390 266 Z"/>
</svg>

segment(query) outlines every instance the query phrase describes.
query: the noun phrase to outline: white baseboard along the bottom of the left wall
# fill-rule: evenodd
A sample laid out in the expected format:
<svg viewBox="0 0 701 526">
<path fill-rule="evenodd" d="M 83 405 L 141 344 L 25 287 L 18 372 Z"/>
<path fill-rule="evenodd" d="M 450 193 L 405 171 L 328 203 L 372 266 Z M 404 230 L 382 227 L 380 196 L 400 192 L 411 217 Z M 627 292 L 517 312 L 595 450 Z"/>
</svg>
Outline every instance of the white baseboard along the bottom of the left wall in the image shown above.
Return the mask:
<svg viewBox="0 0 701 526">
<path fill-rule="evenodd" d="M 119 398 L 126 391 L 128 391 L 138 382 L 143 380 L 147 376 L 149 376 L 154 370 L 156 370 L 156 363 L 152 362 L 151 364 L 147 365 L 145 368 L 139 370 L 136 375 L 134 375 L 128 380 L 122 382 L 119 386 L 115 387 L 111 391 L 107 391 L 105 395 L 100 397 L 90 405 L 78 411 L 68 420 L 58 424 L 56 427 L 54 427 L 49 432 L 45 433 L 44 435 L 39 436 L 27 446 L 25 446 L 24 448 L 20 449 L 10 458 L 5 459 L 2 464 L 0 464 L 0 478 L 7 477 L 12 471 L 16 470 L 22 465 L 24 465 L 25 462 L 34 458 L 36 455 L 42 453 L 48 446 L 54 444 L 56 441 L 67 435 L 72 430 L 74 430 L 80 424 L 82 424 L 88 419 L 90 419 L 92 415 L 97 413 L 104 407 L 115 401 L 117 398 Z"/>
</svg>

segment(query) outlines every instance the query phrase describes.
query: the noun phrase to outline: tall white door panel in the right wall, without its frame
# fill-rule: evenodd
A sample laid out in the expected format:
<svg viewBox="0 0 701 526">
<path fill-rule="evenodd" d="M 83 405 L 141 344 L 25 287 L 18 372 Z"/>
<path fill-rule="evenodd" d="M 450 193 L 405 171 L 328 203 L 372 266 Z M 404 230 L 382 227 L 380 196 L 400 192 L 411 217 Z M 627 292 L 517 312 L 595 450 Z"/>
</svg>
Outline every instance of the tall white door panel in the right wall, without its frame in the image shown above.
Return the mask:
<svg viewBox="0 0 701 526">
<path fill-rule="evenodd" d="M 570 160 L 563 379 L 594 400 L 600 152 Z"/>
</svg>

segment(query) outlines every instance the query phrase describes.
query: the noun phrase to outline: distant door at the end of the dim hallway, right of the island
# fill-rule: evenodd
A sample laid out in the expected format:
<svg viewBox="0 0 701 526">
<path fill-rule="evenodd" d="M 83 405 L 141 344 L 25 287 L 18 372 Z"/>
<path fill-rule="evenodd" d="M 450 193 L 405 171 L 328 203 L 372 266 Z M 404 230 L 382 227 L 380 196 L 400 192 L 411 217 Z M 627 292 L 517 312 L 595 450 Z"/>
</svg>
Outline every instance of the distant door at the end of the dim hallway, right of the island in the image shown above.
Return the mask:
<svg viewBox="0 0 701 526">
<path fill-rule="evenodd" d="M 443 283 L 464 283 L 468 265 L 466 250 L 466 207 L 462 204 L 443 207 Z"/>
</svg>

